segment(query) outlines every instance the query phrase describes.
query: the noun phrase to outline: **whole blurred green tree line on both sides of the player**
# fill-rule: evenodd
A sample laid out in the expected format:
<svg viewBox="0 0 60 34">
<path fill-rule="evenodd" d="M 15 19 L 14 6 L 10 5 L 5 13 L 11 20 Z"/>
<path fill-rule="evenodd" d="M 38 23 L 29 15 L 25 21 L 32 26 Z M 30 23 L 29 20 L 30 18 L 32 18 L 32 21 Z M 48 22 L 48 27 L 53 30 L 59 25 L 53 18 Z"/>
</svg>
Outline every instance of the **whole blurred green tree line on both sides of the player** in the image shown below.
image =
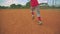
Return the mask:
<svg viewBox="0 0 60 34">
<path fill-rule="evenodd" d="M 26 5 L 21 5 L 21 4 L 11 4 L 9 7 L 7 6 L 0 6 L 0 9 L 19 9 L 19 8 L 30 8 L 30 2 L 27 2 Z M 49 7 L 47 3 L 41 3 L 40 8 L 55 8 L 54 6 Z M 60 8 L 60 7 L 57 7 Z"/>
</svg>

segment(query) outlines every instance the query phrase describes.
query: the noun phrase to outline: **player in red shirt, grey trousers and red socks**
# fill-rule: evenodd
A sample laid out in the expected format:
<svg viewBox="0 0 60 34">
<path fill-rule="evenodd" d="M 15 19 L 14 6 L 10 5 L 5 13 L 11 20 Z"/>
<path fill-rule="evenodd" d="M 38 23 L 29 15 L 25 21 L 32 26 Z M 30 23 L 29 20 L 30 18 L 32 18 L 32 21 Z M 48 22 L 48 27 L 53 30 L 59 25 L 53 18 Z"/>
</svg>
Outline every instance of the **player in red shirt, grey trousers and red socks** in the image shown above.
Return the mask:
<svg viewBox="0 0 60 34">
<path fill-rule="evenodd" d="M 36 10 L 36 14 L 37 14 L 38 24 L 42 24 L 38 1 L 37 0 L 30 0 L 30 6 L 31 6 L 32 19 L 35 18 L 35 16 L 34 16 L 34 9 L 35 9 Z"/>
</svg>

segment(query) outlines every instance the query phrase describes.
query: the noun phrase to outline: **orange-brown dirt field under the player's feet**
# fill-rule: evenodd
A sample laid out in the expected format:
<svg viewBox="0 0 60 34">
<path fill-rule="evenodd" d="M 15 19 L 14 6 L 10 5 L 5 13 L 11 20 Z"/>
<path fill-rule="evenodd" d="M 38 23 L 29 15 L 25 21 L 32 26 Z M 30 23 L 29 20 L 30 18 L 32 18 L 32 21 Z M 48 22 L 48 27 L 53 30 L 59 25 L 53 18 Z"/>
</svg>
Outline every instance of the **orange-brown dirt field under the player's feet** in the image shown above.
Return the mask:
<svg viewBox="0 0 60 34">
<path fill-rule="evenodd" d="M 30 11 L 0 9 L 0 34 L 60 34 L 60 9 L 41 9 L 42 25 L 32 20 Z"/>
</svg>

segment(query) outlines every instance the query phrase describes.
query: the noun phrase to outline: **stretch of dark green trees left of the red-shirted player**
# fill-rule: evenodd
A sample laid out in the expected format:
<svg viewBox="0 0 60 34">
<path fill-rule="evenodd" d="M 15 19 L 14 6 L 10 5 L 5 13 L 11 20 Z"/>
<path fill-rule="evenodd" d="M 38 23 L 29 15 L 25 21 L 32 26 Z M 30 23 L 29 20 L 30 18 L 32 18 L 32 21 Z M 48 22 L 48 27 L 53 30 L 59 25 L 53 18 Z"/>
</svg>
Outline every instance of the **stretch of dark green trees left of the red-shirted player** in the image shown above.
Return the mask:
<svg viewBox="0 0 60 34">
<path fill-rule="evenodd" d="M 15 8 L 29 8 L 30 7 L 30 2 L 27 2 L 26 5 L 21 5 L 21 4 L 11 4 L 10 6 L 0 6 L 0 9 L 15 9 Z"/>
</svg>

